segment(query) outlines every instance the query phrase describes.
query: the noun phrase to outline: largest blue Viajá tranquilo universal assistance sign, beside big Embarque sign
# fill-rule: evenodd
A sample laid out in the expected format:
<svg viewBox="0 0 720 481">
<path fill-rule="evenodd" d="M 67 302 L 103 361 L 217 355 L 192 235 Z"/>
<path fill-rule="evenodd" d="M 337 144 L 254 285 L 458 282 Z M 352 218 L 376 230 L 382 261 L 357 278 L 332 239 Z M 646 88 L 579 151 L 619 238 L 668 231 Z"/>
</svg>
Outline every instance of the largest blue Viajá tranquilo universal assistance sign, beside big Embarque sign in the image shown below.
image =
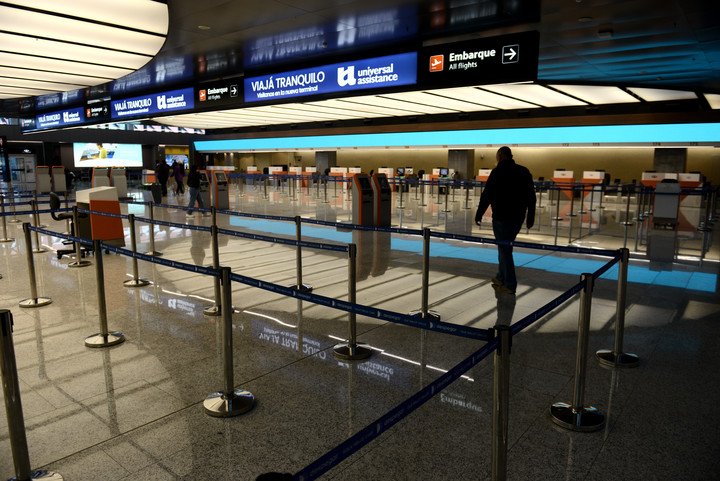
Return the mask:
<svg viewBox="0 0 720 481">
<path fill-rule="evenodd" d="M 417 53 L 403 53 L 247 78 L 245 102 L 415 83 L 417 83 Z"/>
</svg>

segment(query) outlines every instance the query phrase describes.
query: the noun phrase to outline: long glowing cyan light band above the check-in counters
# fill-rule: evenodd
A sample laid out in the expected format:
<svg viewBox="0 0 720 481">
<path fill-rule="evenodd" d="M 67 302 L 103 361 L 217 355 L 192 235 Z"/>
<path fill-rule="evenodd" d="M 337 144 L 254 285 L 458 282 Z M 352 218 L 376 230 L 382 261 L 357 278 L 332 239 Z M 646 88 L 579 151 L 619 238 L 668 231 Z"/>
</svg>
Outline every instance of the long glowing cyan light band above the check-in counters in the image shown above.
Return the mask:
<svg viewBox="0 0 720 481">
<path fill-rule="evenodd" d="M 320 135 L 195 142 L 201 152 L 267 149 L 336 149 L 343 147 L 436 147 L 563 144 L 697 144 L 720 145 L 720 123 L 535 127 L 525 129 L 450 130 L 391 134 Z"/>
</svg>

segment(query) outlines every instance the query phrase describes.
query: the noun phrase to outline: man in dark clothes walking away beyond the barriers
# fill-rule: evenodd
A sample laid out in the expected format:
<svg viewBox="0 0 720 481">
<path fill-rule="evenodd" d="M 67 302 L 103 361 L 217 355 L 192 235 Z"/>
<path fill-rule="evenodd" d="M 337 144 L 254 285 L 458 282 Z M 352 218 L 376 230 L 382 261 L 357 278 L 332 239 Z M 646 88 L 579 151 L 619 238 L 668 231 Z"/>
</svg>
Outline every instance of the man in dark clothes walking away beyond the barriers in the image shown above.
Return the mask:
<svg viewBox="0 0 720 481">
<path fill-rule="evenodd" d="M 493 234 L 498 244 L 498 273 L 493 288 L 502 294 L 515 294 L 517 279 L 512 244 L 526 221 L 528 229 L 535 224 L 535 185 L 532 174 L 516 164 L 510 147 L 500 147 L 497 166 L 490 172 L 480 196 L 475 223 L 480 225 L 488 206 L 492 207 Z M 527 218 L 527 220 L 526 220 Z"/>
</svg>

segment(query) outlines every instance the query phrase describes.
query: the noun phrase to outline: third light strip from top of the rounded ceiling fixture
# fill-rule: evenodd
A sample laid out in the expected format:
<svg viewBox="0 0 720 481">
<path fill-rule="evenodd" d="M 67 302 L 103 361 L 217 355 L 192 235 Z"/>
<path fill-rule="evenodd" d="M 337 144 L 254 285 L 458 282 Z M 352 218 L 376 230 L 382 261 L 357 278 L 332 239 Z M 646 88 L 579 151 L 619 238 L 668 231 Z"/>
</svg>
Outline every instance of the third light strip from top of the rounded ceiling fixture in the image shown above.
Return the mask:
<svg viewBox="0 0 720 481">
<path fill-rule="evenodd" d="M 73 62 L 89 62 L 97 65 L 115 66 L 132 70 L 142 67 L 152 58 L 149 55 L 124 53 L 115 50 L 86 47 L 7 33 L 0 33 L 0 45 L 3 45 L 3 48 L 9 49 L 15 54 L 40 56 Z"/>
</svg>

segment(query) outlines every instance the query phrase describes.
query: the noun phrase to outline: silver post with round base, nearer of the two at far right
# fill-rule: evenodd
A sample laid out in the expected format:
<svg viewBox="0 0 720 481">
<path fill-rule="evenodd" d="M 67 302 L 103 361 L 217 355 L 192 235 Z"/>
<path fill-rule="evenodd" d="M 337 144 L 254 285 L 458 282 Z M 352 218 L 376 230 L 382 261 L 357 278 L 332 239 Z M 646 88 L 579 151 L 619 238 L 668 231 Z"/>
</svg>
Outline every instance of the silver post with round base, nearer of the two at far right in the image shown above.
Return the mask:
<svg viewBox="0 0 720 481">
<path fill-rule="evenodd" d="M 597 431 L 605 425 L 605 415 L 593 406 L 585 406 L 585 371 L 587 367 L 588 335 L 590 331 L 590 308 L 592 305 L 593 277 L 582 274 L 583 290 L 580 291 L 580 315 L 578 316 L 577 355 L 575 358 L 575 388 L 572 404 L 555 403 L 550 407 L 552 420 L 558 426 L 573 431 Z"/>
</svg>

